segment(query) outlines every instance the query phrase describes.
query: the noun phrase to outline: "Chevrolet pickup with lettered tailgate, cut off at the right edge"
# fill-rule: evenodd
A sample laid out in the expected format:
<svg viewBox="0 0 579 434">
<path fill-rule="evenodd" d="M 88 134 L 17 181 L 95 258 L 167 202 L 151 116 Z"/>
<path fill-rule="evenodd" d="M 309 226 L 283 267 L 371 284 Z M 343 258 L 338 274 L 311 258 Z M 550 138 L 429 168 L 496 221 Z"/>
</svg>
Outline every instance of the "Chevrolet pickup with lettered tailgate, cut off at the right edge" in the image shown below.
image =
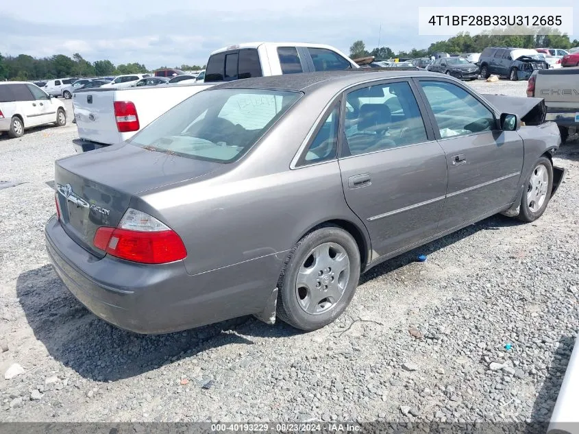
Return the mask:
<svg viewBox="0 0 579 434">
<path fill-rule="evenodd" d="M 558 125 L 561 143 L 579 131 L 579 67 L 533 71 L 527 96 L 543 98 L 545 121 Z"/>
</svg>

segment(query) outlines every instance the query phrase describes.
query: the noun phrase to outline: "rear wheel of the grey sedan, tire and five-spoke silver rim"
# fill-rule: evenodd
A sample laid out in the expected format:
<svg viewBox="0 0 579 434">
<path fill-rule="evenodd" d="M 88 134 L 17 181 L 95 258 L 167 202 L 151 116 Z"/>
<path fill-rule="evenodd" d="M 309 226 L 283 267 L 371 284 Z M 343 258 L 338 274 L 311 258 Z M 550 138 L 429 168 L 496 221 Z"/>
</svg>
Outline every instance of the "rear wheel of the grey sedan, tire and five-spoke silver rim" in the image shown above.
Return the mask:
<svg viewBox="0 0 579 434">
<path fill-rule="evenodd" d="M 360 252 L 352 235 L 321 226 L 288 254 L 278 281 L 277 315 L 299 330 L 317 330 L 345 311 L 359 279 Z"/>
</svg>

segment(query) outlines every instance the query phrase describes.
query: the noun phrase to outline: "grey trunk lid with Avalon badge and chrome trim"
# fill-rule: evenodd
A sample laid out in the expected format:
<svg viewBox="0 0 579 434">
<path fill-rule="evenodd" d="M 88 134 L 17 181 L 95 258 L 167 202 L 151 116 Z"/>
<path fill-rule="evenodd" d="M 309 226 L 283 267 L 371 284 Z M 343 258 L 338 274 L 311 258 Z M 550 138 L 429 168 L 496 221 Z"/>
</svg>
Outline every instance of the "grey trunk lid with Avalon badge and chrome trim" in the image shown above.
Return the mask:
<svg viewBox="0 0 579 434">
<path fill-rule="evenodd" d="M 56 161 L 56 200 L 64 230 L 102 257 L 93 239 L 101 226 L 116 227 L 138 193 L 199 178 L 223 165 L 153 152 L 127 143 Z"/>
</svg>

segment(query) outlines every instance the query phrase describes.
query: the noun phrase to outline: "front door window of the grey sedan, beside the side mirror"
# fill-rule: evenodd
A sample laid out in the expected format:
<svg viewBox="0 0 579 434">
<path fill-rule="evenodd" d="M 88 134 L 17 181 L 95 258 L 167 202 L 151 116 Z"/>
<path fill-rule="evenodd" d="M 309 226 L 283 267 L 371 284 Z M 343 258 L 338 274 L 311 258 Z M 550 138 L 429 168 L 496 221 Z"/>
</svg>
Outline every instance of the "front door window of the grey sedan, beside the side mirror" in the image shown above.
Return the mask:
<svg viewBox="0 0 579 434">
<path fill-rule="evenodd" d="M 448 82 L 420 82 L 441 137 L 495 129 L 493 112 L 465 89 Z"/>
</svg>

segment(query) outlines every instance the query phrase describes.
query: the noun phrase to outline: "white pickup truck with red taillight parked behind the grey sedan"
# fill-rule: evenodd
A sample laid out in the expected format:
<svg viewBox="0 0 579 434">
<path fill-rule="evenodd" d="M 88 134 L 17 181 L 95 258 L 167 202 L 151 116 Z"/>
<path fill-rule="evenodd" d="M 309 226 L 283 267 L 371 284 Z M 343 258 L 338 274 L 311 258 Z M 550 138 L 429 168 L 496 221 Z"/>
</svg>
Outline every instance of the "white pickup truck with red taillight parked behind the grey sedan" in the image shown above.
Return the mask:
<svg viewBox="0 0 579 434">
<path fill-rule="evenodd" d="M 219 82 L 313 71 L 358 69 L 354 60 L 330 45 L 247 43 L 211 53 L 204 84 L 169 84 L 128 89 L 95 88 L 73 94 L 79 139 L 77 152 L 114 145 L 191 95 Z"/>
</svg>

